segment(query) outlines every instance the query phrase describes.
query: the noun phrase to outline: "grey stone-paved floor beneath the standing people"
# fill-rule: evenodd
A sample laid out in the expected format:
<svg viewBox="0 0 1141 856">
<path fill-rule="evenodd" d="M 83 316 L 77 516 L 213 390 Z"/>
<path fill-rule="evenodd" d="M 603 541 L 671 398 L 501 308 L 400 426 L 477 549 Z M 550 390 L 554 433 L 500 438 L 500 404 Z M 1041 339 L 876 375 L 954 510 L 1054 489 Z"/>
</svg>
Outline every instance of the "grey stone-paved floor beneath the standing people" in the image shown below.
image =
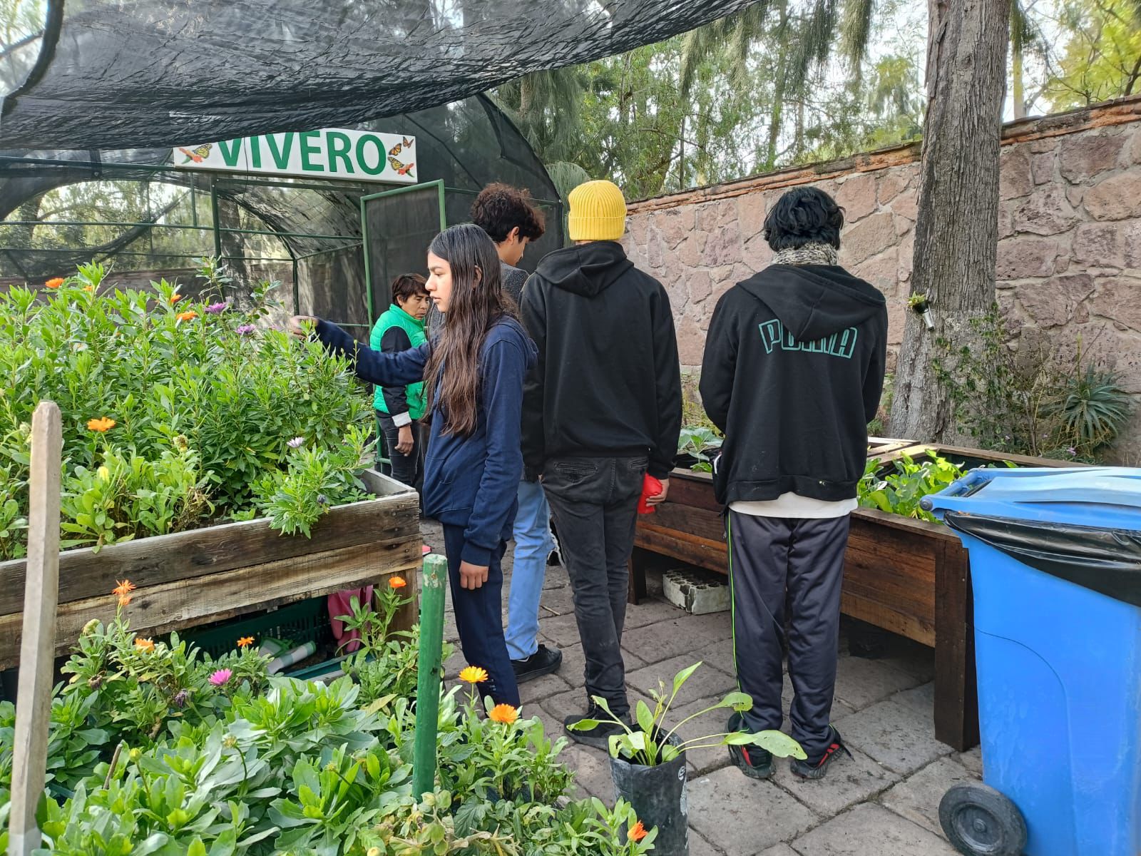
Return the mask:
<svg viewBox="0 0 1141 856">
<path fill-rule="evenodd" d="M 423 524 L 423 531 L 427 543 L 443 546 L 435 524 Z M 509 548 L 508 578 L 510 557 Z M 549 734 L 559 732 L 564 717 L 583 712 L 586 703 L 569 593 L 566 572 L 548 568 L 540 633 L 563 649 L 563 667 L 519 688 L 524 714 L 541 716 Z M 503 603 L 505 619 L 507 584 Z M 682 691 L 679 712 L 701 710 L 734 689 L 730 635 L 729 613 L 689 615 L 661 599 L 659 578 L 652 578 L 650 597 L 629 607 L 623 636 L 631 701 L 697 660 L 703 665 Z M 451 605 L 445 636 L 458 641 Z M 462 667 L 456 649 L 445 663 L 445 677 L 454 679 Z M 934 738 L 932 673 L 932 652 L 906 639 L 891 637 L 877 660 L 849 656 L 842 643 L 833 721 L 852 758 L 834 762 L 818 782 L 795 778 L 784 765 L 772 780 L 756 782 L 733 767 L 725 750 L 691 752 L 690 854 L 954 856 L 939 827 L 939 800 L 956 782 L 978 780 L 981 760 L 978 749 L 957 753 Z M 790 694 L 786 680 L 786 706 Z M 721 727 L 718 721 L 710 725 Z M 572 744 L 563 758 L 576 772 L 578 796 L 613 801 L 605 751 Z"/>
</svg>

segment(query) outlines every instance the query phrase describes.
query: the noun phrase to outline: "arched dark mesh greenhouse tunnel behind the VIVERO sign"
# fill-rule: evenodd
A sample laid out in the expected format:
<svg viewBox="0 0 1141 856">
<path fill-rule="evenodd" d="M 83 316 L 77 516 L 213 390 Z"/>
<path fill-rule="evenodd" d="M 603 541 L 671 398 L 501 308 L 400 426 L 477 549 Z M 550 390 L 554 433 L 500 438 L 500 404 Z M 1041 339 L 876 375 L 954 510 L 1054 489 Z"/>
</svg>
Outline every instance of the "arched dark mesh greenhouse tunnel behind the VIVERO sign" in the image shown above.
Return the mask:
<svg viewBox="0 0 1141 856">
<path fill-rule="evenodd" d="M 558 191 L 526 139 L 486 96 L 357 127 L 415 137 L 419 178 L 442 184 L 447 224 L 469 219 L 476 194 L 489 183 L 503 181 L 527 188 L 547 215 L 547 233 L 528 249 L 521 266 L 533 269 L 543 255 L 563 245 Z M 438 213 L 420 218 L 431 228 L 397 247 L 400 252 L 390 253 L 391 264 L 375 270 L 370 306 L 361 200 L 388 186 L 185 171 L 171 165 L 171 155 L 169 147 L 0 151 L 0 275 L 34 282 L 66 274 L 92 258 L 113 260 L 116 269 L 129 269 L 132 261 L 144 269 L 155 264 L 192 266 L 195 257 L 221 255 L 237 275 L 234 286 L 248 290 L 249 281 L 265 273 L 264 266 L 253 263 L 267 261 L 265 248 L 273 244 L 284 250 L 278 252 L 282 275 L 292 267 L 297 308 L 365 325 L 387 307 L 391 275 L 422 272 L 427 243 L 439 227 Z M 79 231 L 50 247 L 29 241 L 27 235 L 50 237 L 62 227 L 44 219 L 35 223 L 33 233 L 31 224 L 21 219 L 21 207 L 32 200 L 34 208 L 34 200 L 49 191 L 84 183 L 138 183 L 152 188 L 148 199 L 157 201 L 154 210 L 136 221 L 100 228 L 106 242 L 84 241 L 88 233 Z M 212 201 L 217 209 L 211 217 Z M 405 193 L 396 209 L 414 212 L 418 204 Z M 216 225 L 221 226 L 220 253 L 213 244 Z M 370 243 L 396 247 L 394 235 L 388 234 L 391 227 L 391 218 L 370 226 Z M 155 249 L 156 236 L 175 233 L 189 236 L 183 241 L 181 260 L 172 257 L 170 242 L 163 244 L 168 250 Z M 193 245 L 185 245 L 188 241 Z M 397 270 L 397 265 L 404 267 Z"/>
</svg>

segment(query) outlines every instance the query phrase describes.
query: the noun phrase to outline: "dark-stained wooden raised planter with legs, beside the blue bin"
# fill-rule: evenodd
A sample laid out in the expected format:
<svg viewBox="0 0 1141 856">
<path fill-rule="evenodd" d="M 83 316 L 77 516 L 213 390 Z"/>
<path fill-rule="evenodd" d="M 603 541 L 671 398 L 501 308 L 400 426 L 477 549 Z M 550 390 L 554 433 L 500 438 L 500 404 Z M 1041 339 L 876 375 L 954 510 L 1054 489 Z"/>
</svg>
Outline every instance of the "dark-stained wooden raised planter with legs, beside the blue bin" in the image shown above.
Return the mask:
<svg viewBox="0 0 1141 856">
<path fill-rule="evenodd" d="M 903 454 L 936 452 L 969 467 L 1011 461 L 1025 467 L 1070 466 L 979 449 L 873 439 L 868 458 L 889 463 Z M 640 516 L 630 562 L 630 600 L 646 593 L 652 554 L 728 573 L 721 506 L 712 476 L 674 469 L 670 496 Z M 852 512 L 844 556 L 841 609 L 851 617 L 934 648 L 936 737 L 963 751 L 979 742 L 970 565 L 945 526 L 860 508 Z"/>
</svg>

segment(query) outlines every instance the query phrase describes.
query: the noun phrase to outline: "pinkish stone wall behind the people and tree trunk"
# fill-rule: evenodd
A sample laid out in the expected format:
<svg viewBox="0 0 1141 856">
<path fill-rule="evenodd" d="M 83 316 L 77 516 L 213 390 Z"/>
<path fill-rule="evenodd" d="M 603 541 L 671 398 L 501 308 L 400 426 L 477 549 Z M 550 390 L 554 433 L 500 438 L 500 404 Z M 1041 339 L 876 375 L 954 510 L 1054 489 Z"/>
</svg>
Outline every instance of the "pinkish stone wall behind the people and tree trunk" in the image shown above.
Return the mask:
<svg viewBox="0 0 1141 856">
<path fill-rule="evenodd" d="M 888 299 L 889 365 L 903 340 L 919 200 L 917 145 L 630 205 L 630 258 L 670 293 L 681 363 L 701 364 L 718 298 L 768 264 L 764 213 L 815 184 L 844 208 L 840 264 Z M 998 300 L 1022 334 L 1081 341 L 1141 399 L 1141 98 L 1006 126 Z M 1141 410 L 1141 409 L 1139 409 Z M 1123 445 L 1141 452 L 1141 418 Z"/>
</svg>

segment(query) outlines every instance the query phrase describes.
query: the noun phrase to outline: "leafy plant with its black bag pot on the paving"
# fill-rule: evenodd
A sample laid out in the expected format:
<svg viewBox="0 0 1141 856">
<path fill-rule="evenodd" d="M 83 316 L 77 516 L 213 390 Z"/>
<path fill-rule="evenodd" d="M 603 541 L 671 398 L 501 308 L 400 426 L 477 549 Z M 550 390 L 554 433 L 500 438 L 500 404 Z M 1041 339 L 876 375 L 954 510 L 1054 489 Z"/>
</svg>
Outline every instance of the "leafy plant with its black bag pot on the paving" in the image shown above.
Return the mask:
<svg viewBox="0 0 1141 856">
<path fill-rule="evenodd" d="M 782 732 L 730 732 L 707 734 L 682 741 L 677 730 L 686 722 L 714 710 L 733 710 L 734 719 L 753 706 L 746 693 L 734 692 L 717 704 L 686 717 L 672 728 L 666 728 L 665 717 L 678 697 L 682 685 L 697 671 L 701 663 L 682 669 L 673 677 L 673 686 L 667 689 L 658 683 L 658 689 L 650 691 L 654 709 L 644 701 L 634 705 L 633 725 L 623 722 L 610 711 L 606 700 L 594 696 L 594 703 L 606 711 L 608 720 L 583 719 L 570 726 L 574 730 L 590 730 L 601 722 L 622 728 L 610 735 L 610 778 L 614 781 L 616 798 L 630 802 L 638 817 L 647 827 L 657 827 L 654 849 L 663 856 L 685 856 L 689 853 L 689 818 L 686 800 L 686 750 L 710 746 L 754 745 L 778 758 L 807 758 L 804 750 L 792 737 Z"/>
</svg>

